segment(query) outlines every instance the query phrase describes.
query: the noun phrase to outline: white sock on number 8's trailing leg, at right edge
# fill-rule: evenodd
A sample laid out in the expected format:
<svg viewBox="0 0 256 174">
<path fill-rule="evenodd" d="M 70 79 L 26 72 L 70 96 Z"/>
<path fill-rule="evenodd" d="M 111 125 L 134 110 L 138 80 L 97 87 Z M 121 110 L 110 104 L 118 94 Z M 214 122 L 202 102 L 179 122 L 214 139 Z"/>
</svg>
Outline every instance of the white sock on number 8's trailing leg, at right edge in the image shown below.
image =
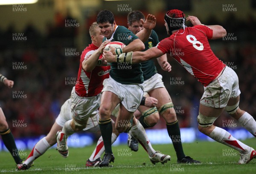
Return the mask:
<svg viewBox="0 0 256 174">
<path fill-rule="evenodd" d="M 256 121 L 249 113 L 244 112 L 238 121 L 245 129 L 247 129 L 254 137 L 256 137 Z"/>
</svg>

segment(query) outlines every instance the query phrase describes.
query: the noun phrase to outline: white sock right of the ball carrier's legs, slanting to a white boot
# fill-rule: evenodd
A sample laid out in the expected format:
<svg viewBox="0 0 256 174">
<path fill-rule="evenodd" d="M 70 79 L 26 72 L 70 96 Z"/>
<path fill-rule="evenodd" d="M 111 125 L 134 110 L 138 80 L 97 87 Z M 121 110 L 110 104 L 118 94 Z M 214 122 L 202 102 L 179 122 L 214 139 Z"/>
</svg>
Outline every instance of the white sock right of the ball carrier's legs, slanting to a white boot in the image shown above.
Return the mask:
<svg viewBox="0 0 256 174">
<path fill-rule="evenodd" d="M 130 132 L 131 135 L 139 141 L 150 157 L 156 153 L 156 151 L 152 148 L 145 129 L 141 125 L 140 121 L 137 120 L 137 124 L 132 126 Z"/>
</svg>

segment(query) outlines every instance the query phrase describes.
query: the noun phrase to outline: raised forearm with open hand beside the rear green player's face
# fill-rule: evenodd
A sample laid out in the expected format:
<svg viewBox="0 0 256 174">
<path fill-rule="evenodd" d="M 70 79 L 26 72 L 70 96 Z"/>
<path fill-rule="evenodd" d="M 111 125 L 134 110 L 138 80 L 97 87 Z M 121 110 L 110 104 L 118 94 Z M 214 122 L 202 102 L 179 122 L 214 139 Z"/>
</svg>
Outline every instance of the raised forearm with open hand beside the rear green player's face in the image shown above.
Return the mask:
<svg viewBox="0 0 256 174">
<path fill-rule="evenodd" d="M 148 40 L 149 36 L 151 35 L 152 29 L 156 26 L 157 18 L 154 15 L 148 14 L 145 22 L 143 19 L 140 20 L 143 25 L 143 30 L 138 32 L 136 36 L 140 38 L 140 40 L 144 43 Z"/>
</svg>

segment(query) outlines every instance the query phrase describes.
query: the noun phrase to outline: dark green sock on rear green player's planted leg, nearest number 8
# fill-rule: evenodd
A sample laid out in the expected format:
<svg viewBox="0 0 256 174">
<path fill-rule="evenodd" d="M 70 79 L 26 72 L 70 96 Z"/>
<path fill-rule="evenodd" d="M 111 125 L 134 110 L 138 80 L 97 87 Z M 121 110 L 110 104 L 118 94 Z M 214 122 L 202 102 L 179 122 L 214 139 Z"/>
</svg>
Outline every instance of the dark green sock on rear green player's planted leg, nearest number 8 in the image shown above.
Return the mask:
<svg viewBox="0 0 256 174">
<path fill-rule="evenodd" d="M 182 160 L 185 157 L 183 152 L 181 138 L 180 138 L 180 127 L 178 121 L 172 123 L 166 123 L 166 128 L 169 137 L 172 139 L 172 144 L 176 152 L 177 160 Z"/>
</svg>

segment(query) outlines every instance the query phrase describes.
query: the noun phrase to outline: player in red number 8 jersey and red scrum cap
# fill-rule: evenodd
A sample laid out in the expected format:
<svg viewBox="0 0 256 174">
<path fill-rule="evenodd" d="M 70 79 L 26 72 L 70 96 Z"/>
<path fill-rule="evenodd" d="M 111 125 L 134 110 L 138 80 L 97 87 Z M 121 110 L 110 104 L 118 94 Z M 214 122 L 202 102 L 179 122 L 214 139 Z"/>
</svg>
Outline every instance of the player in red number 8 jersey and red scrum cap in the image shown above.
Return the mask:
<svg viewBox="0 0 256 174">
<path fill-rule="evenodd" d="M 108 62 L 118 60 L 118 62 L 135 64 L 166 53 L 173 55 L 180 65 L 204 85 L 198 114 L 199 131 L 239 151 L 239 164 L 249 163 L 256 157 L 256 151 L 234 138 L 226 130 L 213 125 L 226 110 L 230 116 L 256 136 L 256 121 L 249 113 L 239 108 L 241 92 L 238 76 L 234 70 L 215 56 L 208 42 L 208 39 L 224 37 L 227 34 L 226 30 L 221 25 L 203 25 L 194 16 L 185 19 L 185 14 L 177 9 L 168 11 L 164 20 L 166 31 L 171 36 L 160 41 L 156 47 L 144 52 L 130 52 L 118 56 L 108 51 L 104 53 L 105 59 Z M 193 27 L 186 27 L 186 20 L 192 22 Z M 183 56 L 178 52 L 184 53 Z"/>
</svg>

